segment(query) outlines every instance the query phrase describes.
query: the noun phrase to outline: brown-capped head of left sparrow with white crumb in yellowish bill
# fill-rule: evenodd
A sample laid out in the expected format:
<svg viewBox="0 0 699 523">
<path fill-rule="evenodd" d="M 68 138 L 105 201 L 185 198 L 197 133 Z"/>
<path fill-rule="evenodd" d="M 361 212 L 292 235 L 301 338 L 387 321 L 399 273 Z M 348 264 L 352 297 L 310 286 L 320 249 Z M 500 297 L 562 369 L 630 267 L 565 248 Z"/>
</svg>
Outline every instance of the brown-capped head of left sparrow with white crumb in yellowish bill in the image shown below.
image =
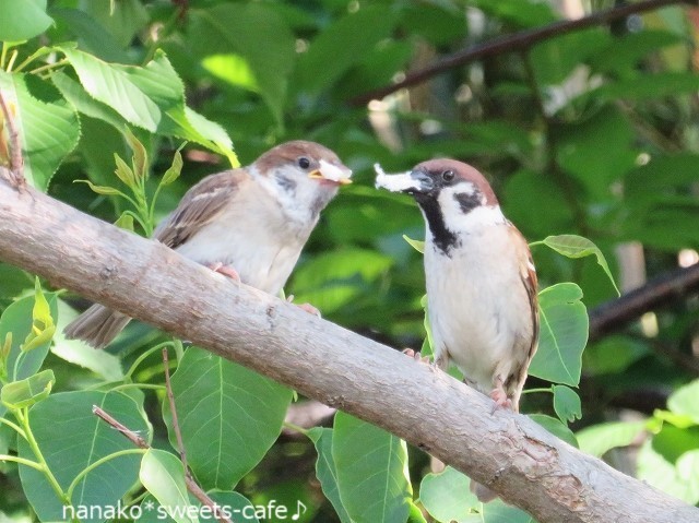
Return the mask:
<svg viewBox="0 0 699 523">
<path fill-rule="evenodd" d="M 352 170 L 337 155 L 315 142 L 295 140 L 262 154 L 250 166 L 250 175 L 266 187 L 291 215 L 318 213 L 342 185 L 352 183 Z"/>
</svg>

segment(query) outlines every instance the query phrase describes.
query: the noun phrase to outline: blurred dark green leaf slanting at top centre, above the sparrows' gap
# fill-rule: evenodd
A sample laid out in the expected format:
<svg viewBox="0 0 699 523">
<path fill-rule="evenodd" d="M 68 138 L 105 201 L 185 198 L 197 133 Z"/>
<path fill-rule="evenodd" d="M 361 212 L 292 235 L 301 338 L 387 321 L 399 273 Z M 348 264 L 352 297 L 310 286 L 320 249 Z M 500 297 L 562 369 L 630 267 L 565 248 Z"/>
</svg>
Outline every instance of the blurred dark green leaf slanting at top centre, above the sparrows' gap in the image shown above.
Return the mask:
<svg viewBox="0 0 699 523">
<path fill-rule="evenodd" d="M 396 22 L 390 5 L 367 4 L 332 22 L 298 59 L 295 85 L 318 94 L 329 88 L 354 64 L 388 38 Z"/>
</svg>

